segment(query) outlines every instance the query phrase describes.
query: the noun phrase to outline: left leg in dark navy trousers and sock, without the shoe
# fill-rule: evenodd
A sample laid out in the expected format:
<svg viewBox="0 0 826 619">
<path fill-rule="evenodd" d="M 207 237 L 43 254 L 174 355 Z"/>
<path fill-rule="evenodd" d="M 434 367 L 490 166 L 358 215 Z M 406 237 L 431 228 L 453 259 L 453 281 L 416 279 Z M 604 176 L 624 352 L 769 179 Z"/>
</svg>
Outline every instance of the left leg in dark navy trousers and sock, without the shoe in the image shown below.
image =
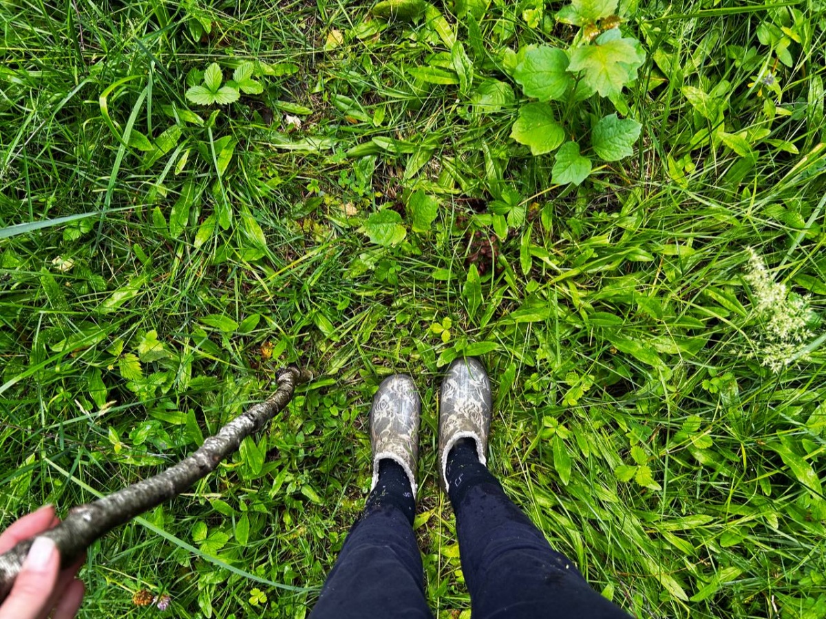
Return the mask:
<svg viewBox="0 0 826 619">
<path fill-rule="evenodd" d="M 412 527 L 414 501 L 405 471 L 382 460 L 378 483 L 344 541 L 311 619 L 431 619 Z"/>
</svg>

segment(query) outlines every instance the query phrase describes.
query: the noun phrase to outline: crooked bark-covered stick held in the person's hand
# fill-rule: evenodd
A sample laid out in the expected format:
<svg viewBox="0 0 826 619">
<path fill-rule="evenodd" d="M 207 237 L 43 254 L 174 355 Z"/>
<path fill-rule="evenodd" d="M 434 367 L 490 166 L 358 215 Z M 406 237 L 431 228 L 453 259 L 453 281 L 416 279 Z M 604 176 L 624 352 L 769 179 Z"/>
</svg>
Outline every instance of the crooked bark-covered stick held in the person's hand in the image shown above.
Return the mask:
<svg viewBox="0 0 826 619">
<path fill-rule="evenodd" d="M 94 541 L 114 527 L 173 499 L 197 480 L 209 475 L 221 460 L 238 449 L 245 437 L 258 432 L 286 408 L 296 385 L 311 378 L 310 371 L 295 367 L 279 371 L 276 378 L 278 390 L 269 399 L 255 404 L 227 423 L 215 436 L 207 438 L 191 456 L 154 477 L 127 486 L 93 503 L 72 508 L 63 522 L 40 535 L 55 541 L 60 551 L 62 567 L 72 565 Z M 34 540 L 32 537 L 21 541 L 12 550 L 0 555 L 0 603 L 7 598 Z"/>
</svg>

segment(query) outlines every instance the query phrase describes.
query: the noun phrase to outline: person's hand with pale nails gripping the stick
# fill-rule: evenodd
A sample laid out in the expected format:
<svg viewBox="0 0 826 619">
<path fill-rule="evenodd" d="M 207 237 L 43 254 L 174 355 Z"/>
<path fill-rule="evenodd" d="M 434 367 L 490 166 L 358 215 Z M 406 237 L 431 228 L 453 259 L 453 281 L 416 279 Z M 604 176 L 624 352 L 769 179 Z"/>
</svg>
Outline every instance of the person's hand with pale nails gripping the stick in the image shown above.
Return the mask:
<svg viewBox="0 0 826 619">
<path fill-rule="evenodd" d="M 0 535 L 0 554 L 60 522 L 55 508 L 47 505 L 21 517 Z M 38 537 L 23 562 L 12 591 L 0 606 L 0 619 L 72 619 L 83 599 L 83 583 L 75 578 L 83 558 L 60 570 L 55 542 Z"/>
</svg>

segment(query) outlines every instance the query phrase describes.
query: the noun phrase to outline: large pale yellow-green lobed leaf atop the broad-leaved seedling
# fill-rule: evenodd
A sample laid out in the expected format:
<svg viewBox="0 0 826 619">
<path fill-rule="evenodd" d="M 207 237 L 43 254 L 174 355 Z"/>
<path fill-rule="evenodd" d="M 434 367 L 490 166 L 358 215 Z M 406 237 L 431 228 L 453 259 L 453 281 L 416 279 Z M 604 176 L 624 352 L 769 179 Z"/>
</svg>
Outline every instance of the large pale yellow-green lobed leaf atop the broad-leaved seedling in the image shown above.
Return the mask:
<svg viewBox="0 0 826 619">
<path fill-rule="evenodd" d="M 616 31 L 619 32 L 619 31 Z M 608 33 L 605 33 L 608 34 Z M 645 53 L 634 39 L 601 35 L 596 45 L 580 45 L 571 52 L 568 71 L 582 71 L 582 82 L 602 97 L 619 94 L 625 84 L 637 77 Z"/>
</svg>

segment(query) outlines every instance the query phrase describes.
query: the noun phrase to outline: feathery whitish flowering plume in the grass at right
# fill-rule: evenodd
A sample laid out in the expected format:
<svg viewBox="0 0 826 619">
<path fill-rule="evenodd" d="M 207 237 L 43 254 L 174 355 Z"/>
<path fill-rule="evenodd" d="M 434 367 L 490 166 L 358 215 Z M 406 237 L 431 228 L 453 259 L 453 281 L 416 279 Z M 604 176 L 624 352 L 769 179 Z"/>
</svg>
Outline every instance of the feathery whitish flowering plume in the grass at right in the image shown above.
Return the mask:
<svg viewBox="0 0 826 619">
<path fill-rule="evenodd" d="M 762 324 L 756 334 L 752 356 L 760 357 L 762 365 L 778 373 L 795 361 L 805 361 L 806 344 L 813 333 L 814 312 L 809 297 L 790 292 L 771 276 L 766 262 L 748 248 L 748 268 L 744 279 L 752 288 L 754 311 Z"/>
</svg>

